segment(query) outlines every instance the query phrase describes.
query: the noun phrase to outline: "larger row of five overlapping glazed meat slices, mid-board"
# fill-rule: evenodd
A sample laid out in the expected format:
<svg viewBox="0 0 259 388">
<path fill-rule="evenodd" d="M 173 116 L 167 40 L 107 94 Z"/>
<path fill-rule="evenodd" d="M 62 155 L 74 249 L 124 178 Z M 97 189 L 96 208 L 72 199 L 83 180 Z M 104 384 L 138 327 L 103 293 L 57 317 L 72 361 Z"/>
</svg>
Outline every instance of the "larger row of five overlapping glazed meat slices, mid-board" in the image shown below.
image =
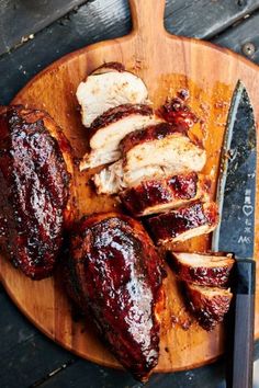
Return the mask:
<svg viewBox="0 0 259 388">
<path fill-rule="evenodd" d="M 196 122 L 180 99 L 154 114 L 144 82 L 121 64 L 106 64 L 77 91 L 90 151 L 80 170 L 102 166 L 98 194 L 119 194 L 147 224 L 157 244 L 209 233 L 217 225 L 210 179 L 201 174 L 206 152 L 189 130 Z M 103 166 L 109 164 L 109 166 Z"/>
</svg>

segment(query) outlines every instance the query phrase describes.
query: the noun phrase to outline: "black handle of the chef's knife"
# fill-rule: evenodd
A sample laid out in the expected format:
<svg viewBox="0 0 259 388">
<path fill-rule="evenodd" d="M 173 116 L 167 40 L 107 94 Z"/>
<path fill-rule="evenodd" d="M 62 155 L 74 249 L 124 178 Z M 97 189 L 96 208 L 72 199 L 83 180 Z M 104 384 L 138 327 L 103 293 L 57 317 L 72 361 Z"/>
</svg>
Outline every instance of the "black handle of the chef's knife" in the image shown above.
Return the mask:
<svg viewBox="0 0 259 388">
<path fill-rule="evenodd" d="M 227 388 L 251 388 L 255 327 L 255 260 L 237 260 L 234 267 L 234 298 L 228 317 Z"/>
</svg>

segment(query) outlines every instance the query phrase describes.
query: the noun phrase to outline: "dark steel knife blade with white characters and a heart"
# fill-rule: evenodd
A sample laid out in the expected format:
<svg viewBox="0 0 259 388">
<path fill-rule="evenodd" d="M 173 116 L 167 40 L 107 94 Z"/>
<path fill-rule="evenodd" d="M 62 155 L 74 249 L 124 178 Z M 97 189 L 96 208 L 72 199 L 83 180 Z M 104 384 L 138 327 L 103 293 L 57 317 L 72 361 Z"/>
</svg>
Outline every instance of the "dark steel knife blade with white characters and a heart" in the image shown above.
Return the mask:
<svg viewBox="0 0 259 388">
<path fill-rule="evenodd" d="M 228 113 L 217 184 L 221 221 L 212 239 L 213 250 L 235 252 L 236 259 L 254 258 L 256 158 L 254 111 L 245 85 L 238 81 Z"/>
</svg>

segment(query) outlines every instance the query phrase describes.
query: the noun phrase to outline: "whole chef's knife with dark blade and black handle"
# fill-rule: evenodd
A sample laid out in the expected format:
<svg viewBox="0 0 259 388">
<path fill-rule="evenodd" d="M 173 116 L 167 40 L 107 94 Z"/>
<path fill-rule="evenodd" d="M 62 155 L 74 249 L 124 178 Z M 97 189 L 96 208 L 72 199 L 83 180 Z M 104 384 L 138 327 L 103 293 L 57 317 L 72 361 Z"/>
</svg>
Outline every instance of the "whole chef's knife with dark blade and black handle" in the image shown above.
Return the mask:
<svg viewBox="0 0 259 388">
<path fill-rule="evenodd" d="M 233 94 L 217 183 L 221 221 L 213 251 L 234 252 L 234 300 L 228 322 L 227 387 L 252 387 L 255 324 L 256 124 L 245 85 Z"/>
</svg>

